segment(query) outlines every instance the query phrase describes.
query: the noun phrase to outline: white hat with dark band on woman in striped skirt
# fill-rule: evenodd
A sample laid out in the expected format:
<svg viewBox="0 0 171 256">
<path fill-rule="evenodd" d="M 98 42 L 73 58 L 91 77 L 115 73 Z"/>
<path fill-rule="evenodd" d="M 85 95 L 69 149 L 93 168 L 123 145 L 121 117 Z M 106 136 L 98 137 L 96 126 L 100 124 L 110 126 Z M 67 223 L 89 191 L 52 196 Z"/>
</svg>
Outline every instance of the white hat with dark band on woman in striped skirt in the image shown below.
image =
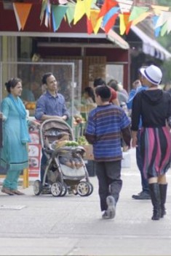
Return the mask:
<svg viewBox="0 0 171 256">
<path fill-rule="evenodd" d="M 162 71 L 159 67 L 151 65 L 149 67 L 140 68 L 140 73 L 151 83 L 159 85 L 162 80 Z"/>
</svg>

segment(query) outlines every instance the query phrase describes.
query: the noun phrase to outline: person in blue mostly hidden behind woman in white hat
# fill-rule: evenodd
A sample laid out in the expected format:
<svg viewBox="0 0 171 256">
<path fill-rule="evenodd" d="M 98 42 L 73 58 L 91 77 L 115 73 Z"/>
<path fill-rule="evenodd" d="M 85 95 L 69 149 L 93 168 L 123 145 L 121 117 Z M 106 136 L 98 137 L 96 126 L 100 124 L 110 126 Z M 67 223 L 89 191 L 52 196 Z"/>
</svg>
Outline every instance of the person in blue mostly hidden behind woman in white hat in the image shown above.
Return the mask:
<svg viewBox="0 0 171 256">
<path fill-rule="evenodd" d="M 133 102 L 135 95 L 138 94 L 140 91 L 148 89 L 148 86 L 145 86 L 146 80 L 144 80 L 143 76 L 141 75 L 140 69 L 139 69 L 139 79 L 140 80 L 135 80 L 135 82 L 132 83 L 132 85 L 134 87 L 130 91 L 129 99 L 127 101 L 127 108 L 128 108 L 128 110 L 131 111 L 131 113 L 132 113 L 132 102 Z M 131 114 L 131 116 L 132 116 L 132 114 Z M 137 162 L 138 169 L 140 170 L 142 191 L 139 192 L 138 195 L 132 195 L 132 198 L 136 199 L 136 200 L 148 200 L 148 199 L 151 199 L 150 191 L 149 191 L 149 187 L 148 187 L 148 178 L 146 178 L 146 176 L 144 176 L 144 173 L 143 173 L 143 161 L 142 161 L 142 157 L 141 157 L 141 153 L 140 153 L 140 130 L 141 130 L 141 127 L 142 127 L 142 121 L 140 118 L 140 123 L 138 126 L 138 133 L 137 133 L 136 162 Z"/>
</svg>

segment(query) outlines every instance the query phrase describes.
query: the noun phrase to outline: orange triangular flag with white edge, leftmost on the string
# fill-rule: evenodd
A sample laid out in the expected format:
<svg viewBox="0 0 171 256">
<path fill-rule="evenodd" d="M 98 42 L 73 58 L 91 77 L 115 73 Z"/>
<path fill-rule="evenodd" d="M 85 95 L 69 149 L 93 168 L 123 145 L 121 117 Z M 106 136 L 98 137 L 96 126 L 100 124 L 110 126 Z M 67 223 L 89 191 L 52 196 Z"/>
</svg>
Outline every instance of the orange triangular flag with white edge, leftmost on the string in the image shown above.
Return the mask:
<svg viewBox="0 0 171 256">
<path fill-rule="evenodd" d="M 15 17 L 17 19 L 18 29 L 24 29 L 25 23 L 28 19 L 28 15 L 31 11 L 32 4 L 26 3 L 13 3 L 13 7 L 15 10 Z"/>
</svg>

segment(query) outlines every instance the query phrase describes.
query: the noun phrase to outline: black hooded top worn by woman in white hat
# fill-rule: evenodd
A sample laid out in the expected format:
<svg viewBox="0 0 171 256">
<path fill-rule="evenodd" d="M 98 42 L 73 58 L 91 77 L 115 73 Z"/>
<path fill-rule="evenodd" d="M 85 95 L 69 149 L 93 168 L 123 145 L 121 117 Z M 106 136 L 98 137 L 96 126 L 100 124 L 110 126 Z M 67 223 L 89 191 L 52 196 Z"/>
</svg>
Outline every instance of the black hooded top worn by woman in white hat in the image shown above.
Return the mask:
<svg viewBox="0 0 171 256">
<path fill-rule="evenodd" d="M 171 97 L 161 89 L 140 91 L 132 102 L 132 130 L 142 127 L 165 127 L 171 116 Z"/>
</svg>

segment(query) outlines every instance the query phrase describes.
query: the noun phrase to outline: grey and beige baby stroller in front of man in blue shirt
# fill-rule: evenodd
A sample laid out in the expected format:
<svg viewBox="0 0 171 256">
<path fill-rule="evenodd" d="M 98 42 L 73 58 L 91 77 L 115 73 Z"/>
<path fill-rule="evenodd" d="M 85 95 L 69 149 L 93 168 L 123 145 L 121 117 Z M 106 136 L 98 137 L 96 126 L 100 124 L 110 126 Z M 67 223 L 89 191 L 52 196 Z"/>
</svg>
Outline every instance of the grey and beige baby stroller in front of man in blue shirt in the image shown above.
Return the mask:
<svg viewBox="0 0 171 256">
<path fill-rule="evenodd" d="M 44 121 L 40 127 L 41 147 L 47 157 L 47 166 L 44 178 L 36 180 L 33 184 L 35 195 L 52 194 L 55 197 L 64 196 L 66 193 L 73 195 L 88 196 L 92 194 L 93 186 L 90 183 L 87 167 L 84 164 L 84 148 L 81 146 L 60 146 L 56 148 L 56 142 L 61 134 L 68 135 L 69 141 L 73 141 L 71 127 L 60 119 L 51 118 Z M 74 143 L 73 143 L 74 144 Z M 79 159 L 81 165 L 68 167 L 60 162 L 61 157 L 73 154 Z M 47 180 L 49 192 L 47 192 Z"/>
</svg>

